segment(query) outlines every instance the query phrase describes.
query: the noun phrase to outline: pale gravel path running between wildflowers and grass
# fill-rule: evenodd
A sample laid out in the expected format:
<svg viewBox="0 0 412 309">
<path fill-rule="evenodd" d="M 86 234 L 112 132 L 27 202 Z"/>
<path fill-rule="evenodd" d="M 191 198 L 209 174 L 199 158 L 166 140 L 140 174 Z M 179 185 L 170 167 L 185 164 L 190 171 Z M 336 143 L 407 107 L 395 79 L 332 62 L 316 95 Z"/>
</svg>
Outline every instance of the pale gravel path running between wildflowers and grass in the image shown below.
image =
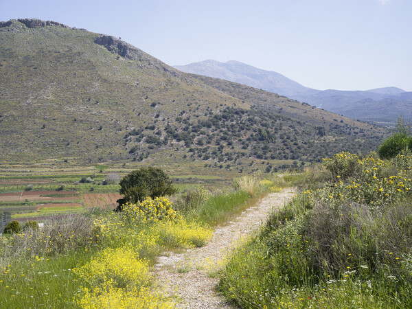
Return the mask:
<svg viewBox="0 0 412 309">
<path fill-rule="evenodd" d="M 216 293 L 218 278 L 209 277 L 207 273 L 217 271 L 231 249 L 266 221 L 271 209 L 282 207 L 295 194 L 292 189 L 268 194 L 227 225 L 216 227 L 214 236 L 205 247 L 160 256 L 154 273 L 157 282 L 165 286 L 168 293 L 178 297 L 176 307 L 232 308 Z"/>
</svg>

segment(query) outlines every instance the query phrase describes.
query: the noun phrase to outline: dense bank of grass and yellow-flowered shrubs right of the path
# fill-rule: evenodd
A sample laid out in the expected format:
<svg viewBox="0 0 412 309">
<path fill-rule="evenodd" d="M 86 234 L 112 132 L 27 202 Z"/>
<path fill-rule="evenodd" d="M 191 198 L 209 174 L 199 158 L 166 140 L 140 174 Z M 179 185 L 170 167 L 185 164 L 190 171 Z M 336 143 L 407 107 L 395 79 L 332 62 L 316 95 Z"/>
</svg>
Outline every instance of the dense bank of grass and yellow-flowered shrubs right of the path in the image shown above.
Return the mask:
<svg viewBox="0 0 412 309">
<path fill-rule="evenodd" d="M 302 192 L 233 253 L 222 293 L 242 308 L 411 308 L 410 159 L 325 160 L 325 186 Z"/>
</svg>

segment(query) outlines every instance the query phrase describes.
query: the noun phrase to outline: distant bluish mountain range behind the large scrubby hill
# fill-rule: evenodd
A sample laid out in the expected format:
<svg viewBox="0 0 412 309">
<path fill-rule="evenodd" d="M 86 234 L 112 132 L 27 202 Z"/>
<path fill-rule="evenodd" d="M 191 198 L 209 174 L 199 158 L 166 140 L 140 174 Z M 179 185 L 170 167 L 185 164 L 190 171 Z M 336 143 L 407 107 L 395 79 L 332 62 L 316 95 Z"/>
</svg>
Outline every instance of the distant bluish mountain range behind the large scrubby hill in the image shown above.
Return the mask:
<svg viewBox="0 0 412 309">
<path fill-rule="evenodd" d="M 175 68 L 186 73 L 220 78 L 285 95 L 352 119 L 379 124 L 393 124 L 399 115 L 412 119 L 412 92 L 396 87 L 367 91 L 321 91 L 304 87 L 277 72 L 265 71 L 235 60 L 225 63 L 205 60 Z"/>
</svg>

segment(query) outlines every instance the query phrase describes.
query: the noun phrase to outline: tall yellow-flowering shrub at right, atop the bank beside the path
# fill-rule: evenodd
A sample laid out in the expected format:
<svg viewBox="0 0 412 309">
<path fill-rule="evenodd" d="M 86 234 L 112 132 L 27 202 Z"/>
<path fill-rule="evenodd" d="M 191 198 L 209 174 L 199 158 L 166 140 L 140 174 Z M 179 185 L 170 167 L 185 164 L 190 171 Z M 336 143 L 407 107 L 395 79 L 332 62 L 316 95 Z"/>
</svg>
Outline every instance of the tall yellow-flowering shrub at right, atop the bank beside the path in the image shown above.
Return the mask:
<svg viewBox="0 0 412 309">
<path fill-rule="evenodd" d="M 406 166 L 406 162 L 412 163 L 410 153 L 402 152 L 392 161 L 382 161 L 374 155 L 358 159 L 356 155 L 342 152 L 332 159 L 325 159 L 323 164 L 343 176 L 336 174 L 334 185 L 308 193 L 314 200 L 365 203 L 372 208 L 398 203 L 410 194 L 412 187 L 410 172 L 397 169 L 397 165 L 402 164 L 410 170 L 412 165 Z M 393 174 L 387 175 L 388 171 Z"/>
</svg>

